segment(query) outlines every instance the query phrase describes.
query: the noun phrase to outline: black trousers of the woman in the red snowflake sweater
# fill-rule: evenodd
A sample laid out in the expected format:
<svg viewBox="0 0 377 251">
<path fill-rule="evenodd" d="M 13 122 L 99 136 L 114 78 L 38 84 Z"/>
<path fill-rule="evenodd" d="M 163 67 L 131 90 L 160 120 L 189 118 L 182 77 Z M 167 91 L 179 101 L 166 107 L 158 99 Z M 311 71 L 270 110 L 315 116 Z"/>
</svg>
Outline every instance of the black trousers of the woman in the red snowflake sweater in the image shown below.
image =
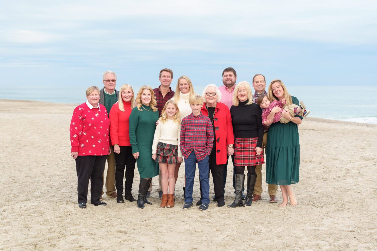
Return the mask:
<svg viewBox="0 0 377 251">
<path fill-rule="evenodd" d="M 90 179 L 90 201 L 92 204 L 100 202 L 103 187 L 103 171 L 107 155 L 104 156 L 77 156 L 77 202 L 88 201 L 88 187 Z"/>
</svg>

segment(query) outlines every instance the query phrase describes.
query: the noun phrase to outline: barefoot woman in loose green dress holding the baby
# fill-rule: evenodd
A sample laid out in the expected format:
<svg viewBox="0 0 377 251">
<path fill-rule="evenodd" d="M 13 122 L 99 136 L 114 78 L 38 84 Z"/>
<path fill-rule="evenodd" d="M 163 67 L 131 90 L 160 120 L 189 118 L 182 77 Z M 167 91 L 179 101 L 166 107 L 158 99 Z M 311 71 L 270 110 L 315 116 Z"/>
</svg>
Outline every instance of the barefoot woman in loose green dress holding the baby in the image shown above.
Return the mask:
<svg viewBox="0 0 377 251">
<path fill-rule="evenodd" d="M 275 79 L 268 87 L 268 98 L 270 101 L 287 101 L 284 105 L 299 105 L 299 100 L 288 93 L 287 88 L 281 80 Z M 266 182 L 268 184 L 280 185 L 283 202 L 279 207 L 288 204 L 297 205 L 291 184 L 299 182 L 300 168 L 300 138 L 297 125 L 302 122 L 302 117 L 290 116 L 288 110 L 282 112 L 282 117 L 290 120 L 288 124 L 273 123 L 268 129 L 266 147 Z"/>
</svg>

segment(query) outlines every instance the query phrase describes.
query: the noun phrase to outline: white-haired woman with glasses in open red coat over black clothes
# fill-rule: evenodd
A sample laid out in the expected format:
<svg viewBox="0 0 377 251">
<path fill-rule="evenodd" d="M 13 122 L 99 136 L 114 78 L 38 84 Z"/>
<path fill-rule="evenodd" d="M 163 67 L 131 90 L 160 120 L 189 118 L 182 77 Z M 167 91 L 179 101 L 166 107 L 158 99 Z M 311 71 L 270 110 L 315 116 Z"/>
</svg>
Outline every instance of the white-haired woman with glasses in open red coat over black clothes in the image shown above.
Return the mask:
<svg viewBox="0 0 377 251">
<path fill-rule="evenodd" d="M 227 105 L 218 102 L 221 100 L 221 92 L 215 84 L 209 84 L 204 88 L 202 97 L 205 100 L 201 112 L 212 121 L 213 148 L 209 157 L 209 167 L 213 178 L 215 199 L 218 207 L 225 205 L 224 202 L 224 164 L 227 163 L 228 155 L 233 155 L 233 126 L 230 111 Z M 198 201 L 201 204 L 201 200 Z M 198 205 L 197 203 L 197 205 Z"/>
</svg>

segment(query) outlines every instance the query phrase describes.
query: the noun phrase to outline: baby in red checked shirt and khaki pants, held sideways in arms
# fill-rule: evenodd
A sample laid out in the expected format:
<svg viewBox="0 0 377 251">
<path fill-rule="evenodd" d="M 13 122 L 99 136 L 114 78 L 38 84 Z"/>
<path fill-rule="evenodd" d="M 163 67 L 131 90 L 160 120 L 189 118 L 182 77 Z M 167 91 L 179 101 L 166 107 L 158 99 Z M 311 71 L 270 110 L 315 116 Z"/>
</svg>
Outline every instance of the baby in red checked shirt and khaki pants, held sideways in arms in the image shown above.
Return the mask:
<svg viewBox="0 0 377 251">
<path fill-rule="evenodd" d="M 283 98 L 282 100 L 274 100 L 272 103 L 270 103 L 270 100 L 268 99 L 267 95 L 259 96 L 257 99 L 257 104 L 264 109 L 262 113 L 262 123 L 264 125 L 271 123 L 271 120 L 267 119 L 267 117 L 268 115 L 270 115 L 271 111 L 275 107 L 277 107 L 277 112 L 274 114 L 273 123 L 280 122 L 287 124 L 288 122 L 290 122 L 289 119 L 284 118 L 281 114 L 284 111 L 284 109 L 287 109 L 292 117 L 294 117 L 295 115 L 306 117 L 310 113 L 310 110 L 305 110 L 306 107 L 302 101 L 300 101 L 300 106 L 288 105 L 283 108 L 285 103 L 285 98 Z"/>
</svg>

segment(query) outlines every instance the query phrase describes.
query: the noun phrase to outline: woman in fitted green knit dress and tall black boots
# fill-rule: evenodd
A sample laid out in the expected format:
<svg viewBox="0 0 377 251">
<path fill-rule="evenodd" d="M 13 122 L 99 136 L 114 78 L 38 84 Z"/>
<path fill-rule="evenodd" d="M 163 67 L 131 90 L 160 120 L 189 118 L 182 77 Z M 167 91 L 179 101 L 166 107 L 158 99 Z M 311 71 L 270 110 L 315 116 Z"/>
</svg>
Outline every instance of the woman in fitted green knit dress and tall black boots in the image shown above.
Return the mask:
<svg viewBox="0 0 377 251">
<path fill-rule="evenodd" d="M 147 201 L 147 191 L 151 178 L 159 172 L 158 163 L 152 159 L 152 143 L 158 117 L 155 93 L 148 85 L 143 85 L 138 91 L 136 107 L 132 109 L 129 118 L 132 155 L 140 174 L 137 200 L 139 208 L 144 208 L 144 203 L 152 204 Z"/>
</svg>

